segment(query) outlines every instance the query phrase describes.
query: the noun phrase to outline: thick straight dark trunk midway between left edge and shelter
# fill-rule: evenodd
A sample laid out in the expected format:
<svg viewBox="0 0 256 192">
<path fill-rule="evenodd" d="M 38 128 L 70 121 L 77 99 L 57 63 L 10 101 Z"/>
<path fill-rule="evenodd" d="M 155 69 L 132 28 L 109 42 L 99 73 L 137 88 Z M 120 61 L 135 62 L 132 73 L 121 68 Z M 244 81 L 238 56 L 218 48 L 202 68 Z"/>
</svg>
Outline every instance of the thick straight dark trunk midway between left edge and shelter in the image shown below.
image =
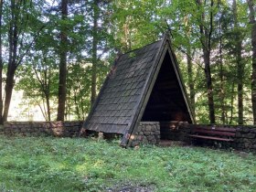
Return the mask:
<svg viewBox="0 0 256 192">
<path fill-rule="evenodd" d="M 62 20 L 68 17 L 68 0 L 61 0 Z M 64 121 L 65 102 L 66 102 L 66 79 L 67 79 L 67 30 L 66 27 L 60 29 L 60 48 L 59 48 L 59 104 L 57 121 Z"/>
</svg>

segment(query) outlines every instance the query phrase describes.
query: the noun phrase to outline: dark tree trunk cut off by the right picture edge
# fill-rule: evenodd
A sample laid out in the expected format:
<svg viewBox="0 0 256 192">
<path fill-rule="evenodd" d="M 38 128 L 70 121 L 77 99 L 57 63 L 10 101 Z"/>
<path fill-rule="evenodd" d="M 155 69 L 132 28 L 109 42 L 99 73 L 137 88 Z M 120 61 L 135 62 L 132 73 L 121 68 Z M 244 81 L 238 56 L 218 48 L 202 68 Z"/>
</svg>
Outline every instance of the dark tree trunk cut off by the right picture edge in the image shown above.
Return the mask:
<svg viewBox="0 0 256 192">
<path fill-rule="evenodd" d="M 250 11 L 251 24 L 251 46 L 252 46 L 252 74 L 251 74 L 251 102 L 253 123 L 256 124 L 256 21 L 255 21 L 255 5 L 253 0 L 247 0 Z"/>
</svg>

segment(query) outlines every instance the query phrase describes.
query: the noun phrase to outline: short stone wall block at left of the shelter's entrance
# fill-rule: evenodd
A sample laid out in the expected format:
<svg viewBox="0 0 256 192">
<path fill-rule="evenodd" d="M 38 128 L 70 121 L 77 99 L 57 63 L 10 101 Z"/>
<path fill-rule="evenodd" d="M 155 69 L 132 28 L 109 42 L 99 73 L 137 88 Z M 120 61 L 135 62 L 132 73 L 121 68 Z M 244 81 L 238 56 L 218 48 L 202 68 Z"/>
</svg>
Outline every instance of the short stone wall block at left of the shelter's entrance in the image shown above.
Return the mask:
<svg viewBox="0 0 256 192">
<path fill-rule="evenodd" d="M 141 122 L 137 131 L 130 139 L 130 146 L 139 144 L 159 144 L 160 124 L 159 122 Z"/>
</svg>

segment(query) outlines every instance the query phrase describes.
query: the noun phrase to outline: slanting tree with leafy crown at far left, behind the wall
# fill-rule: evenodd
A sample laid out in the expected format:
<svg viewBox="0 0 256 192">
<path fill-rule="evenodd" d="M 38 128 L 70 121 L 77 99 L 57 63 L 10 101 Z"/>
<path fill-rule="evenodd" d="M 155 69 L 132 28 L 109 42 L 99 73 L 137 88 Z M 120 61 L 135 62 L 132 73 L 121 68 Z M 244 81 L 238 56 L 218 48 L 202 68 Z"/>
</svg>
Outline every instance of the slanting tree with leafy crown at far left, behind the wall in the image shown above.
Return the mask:
<svg viewBox="0 0 256 192">
<path fill-rule="evenodd" d="M 0 111 L 0 123 L 7 120 L 15 85 L 16 69 L 26 59 L 27 52 L 35 45 L 38 33 L 44 27 L 38 20 L 37 4 L 37 1 L 32 2 L 31 0 L 10 0 L 5 1 L 5 6 L 3 6 L 3 1 L 1 1 L 3 11 L 1 35 L 5 37 L 5 44 L 3 44 L 3 39 L 1 41 L 6 50 L 2 54 L 7 52 L 2 58 L 5 59 L 2 64 L 7 63 L 7 71 L 5 74 L 4 105 L 0 104 L 0 108 L 3 107 L 3 111 Z M 3 82 L 3 80 L 0 81 Z"/>
</svg>

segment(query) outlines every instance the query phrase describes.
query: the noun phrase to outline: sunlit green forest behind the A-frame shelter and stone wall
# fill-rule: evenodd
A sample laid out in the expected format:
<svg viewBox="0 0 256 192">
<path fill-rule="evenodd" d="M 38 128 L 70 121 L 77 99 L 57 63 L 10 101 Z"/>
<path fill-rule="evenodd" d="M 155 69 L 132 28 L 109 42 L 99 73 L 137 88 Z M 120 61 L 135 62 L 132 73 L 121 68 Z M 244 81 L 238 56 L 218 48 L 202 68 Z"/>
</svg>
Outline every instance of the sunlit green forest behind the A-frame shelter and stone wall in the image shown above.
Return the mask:
<svg viewBox="0 0 256 192">
<path fill-rule="evenodd" d="M 254 0 L 0 0 L 0 123 L 14 91 L 84 120 L 112 63 L 167 33 L 197 123 L 256 123 Z"/>
</svg>

